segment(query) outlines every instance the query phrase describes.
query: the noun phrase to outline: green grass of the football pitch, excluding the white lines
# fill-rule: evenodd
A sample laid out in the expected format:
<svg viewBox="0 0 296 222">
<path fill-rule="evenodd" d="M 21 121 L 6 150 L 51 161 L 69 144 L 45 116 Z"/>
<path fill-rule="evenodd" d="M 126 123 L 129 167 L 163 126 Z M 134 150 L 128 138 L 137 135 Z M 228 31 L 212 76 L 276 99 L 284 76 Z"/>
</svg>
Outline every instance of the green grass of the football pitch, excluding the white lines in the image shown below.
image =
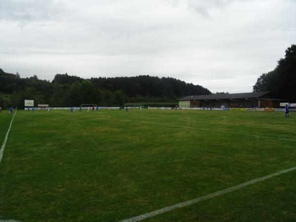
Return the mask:
<svg viewBox="0 0 296 222">
<path fill-rule="evenodd" d="M 295 113 L 17 111 L 0 220 L 120 221 L 295 166 Z M 146 221 L 292 222 L 295 187 L 292 171 Z"/>
</svg>

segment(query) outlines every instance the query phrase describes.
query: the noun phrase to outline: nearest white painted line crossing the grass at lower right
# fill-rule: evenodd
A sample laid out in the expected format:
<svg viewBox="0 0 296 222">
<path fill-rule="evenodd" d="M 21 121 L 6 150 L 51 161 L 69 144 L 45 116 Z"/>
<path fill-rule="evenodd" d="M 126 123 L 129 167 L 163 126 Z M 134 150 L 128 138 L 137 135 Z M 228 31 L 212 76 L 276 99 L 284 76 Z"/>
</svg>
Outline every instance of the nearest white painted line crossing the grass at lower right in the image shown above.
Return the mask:
<svg viewBox="0 0 296 222">
<path fill-rule="evenodd" d="M 282 170 L 282 171 L 279 171 L 279 172 L 274 173 L 274 174 L 269 174 L 267 176 L 260 177 L 260 178 L 257 178 L 255 180 L 252 180 L 252 181 L 248 181 L 248 182 L 243 183 L 243 184 L 232 186 L 232 187 L 227 188 L 227 189 L 222 189 L 222 190 L 219 190 L 219 191 L 217 191 L 215 193 L 207 194 L 207 195 L 198 197 L 196 199 L 188 200 L 188 201 L 185 201 L 185 202 L 182 202 L 182 203 L 178 203 L 178 204 L 175 204 L 175 205 L 172 205 L 172 206 L 169 206 L 169 207 L 164 207 L 164 208 L 161 208 L 159 210 L 149 212 L 147 214 L 142 214 L 142 215 L 137 216 L 137 217 L 134 217 L 134 218 L 122 220 L 120 222 L 137 222 L 137 221 L 142 221 L 144 219 L 147 219 L 147 218 L 150 218 L 150 217 L 154 217 L 156 215 L 163 214 L 165 212 L 172 211 L 172 210 L 177 209 L 177 208 L 186 207 L 186 206 L 189 206 L 191 204 L 195 204 L 195 203 L 200 202 L 200 201 L 203 201 L 203 200 L 207 200 L 207 199 L 210 199 L 210 198 L 213 198 L 213 197 L 216 197 L 216 196 L 220 196 L 220 195 L 222 195 L 224 193 L 232 192 L 234 190 L 243 188 L 243 187 L 248 186 L 248 185 L 257 184 L 257 183 L 259 183 L 261 181 L 265 181 L 265 180 L 267 180 L 269 178 L 276 177 L 278 175 L 291 172 L 293 170 L 296 170 L 296 167 L 292 167 L 292 168 L 289 168 L 289 169 L 286 169 L 286 170 Z"/>
</svg>

